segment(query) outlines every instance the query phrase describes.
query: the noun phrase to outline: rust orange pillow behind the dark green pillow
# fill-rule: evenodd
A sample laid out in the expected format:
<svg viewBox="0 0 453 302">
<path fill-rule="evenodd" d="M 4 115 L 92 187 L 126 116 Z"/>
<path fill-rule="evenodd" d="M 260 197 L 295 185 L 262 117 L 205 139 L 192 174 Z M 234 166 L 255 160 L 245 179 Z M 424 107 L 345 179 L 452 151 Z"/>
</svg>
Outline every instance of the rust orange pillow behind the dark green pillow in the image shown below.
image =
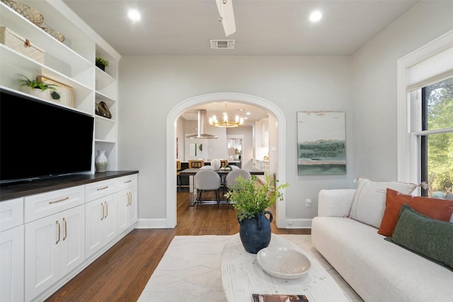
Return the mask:
<svg viewBox="0 0 453 302">
<path fill-rule="evenodd" d="M 391 236 L 398 222 L 398 214 L 403 204 L 408 204 L 418 213 L 442 221 L 449 221 L 453 213 L 453 200 L 401 194 L 387 189 L 384 216 L 377 233 Z"/>
</svg>

